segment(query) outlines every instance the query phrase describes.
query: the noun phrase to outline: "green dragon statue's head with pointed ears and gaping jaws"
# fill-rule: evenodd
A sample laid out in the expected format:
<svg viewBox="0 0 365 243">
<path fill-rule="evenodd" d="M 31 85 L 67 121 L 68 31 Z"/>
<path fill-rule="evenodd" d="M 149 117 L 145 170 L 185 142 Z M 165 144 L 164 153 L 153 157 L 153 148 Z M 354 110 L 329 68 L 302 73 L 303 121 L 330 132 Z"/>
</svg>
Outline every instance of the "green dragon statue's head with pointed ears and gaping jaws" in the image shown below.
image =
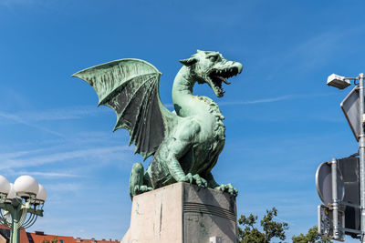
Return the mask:
<svg viewBox="0 0 365 243">
<path fill-rule="evenodd" d="M 199 84 L 207 83 L 211 86 L 217 97 L 224 96 L 222 82 L 231 84 L 226 78 L 240 74 L 243 69 L 242 64 L 224 59 L 219 52 L 198 50 L 196 54 L 180 62 L 189 68 L 190 76 Z"/>
</svg>

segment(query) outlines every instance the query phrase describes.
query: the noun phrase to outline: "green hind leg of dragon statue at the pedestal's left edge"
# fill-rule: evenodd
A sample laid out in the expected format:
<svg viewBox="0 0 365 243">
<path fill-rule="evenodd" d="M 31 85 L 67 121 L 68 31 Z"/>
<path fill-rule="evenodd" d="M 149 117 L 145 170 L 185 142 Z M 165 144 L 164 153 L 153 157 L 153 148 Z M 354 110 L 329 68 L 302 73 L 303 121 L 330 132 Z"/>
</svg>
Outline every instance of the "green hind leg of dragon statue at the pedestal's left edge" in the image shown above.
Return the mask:
<svg viewBox="0 0 365 243">
<path fill-rule="evenodd" d="M 130 199 L 146 191 L 151 191 L 149 187 L 148 175 L 144 175 L 144 168 L 141 163 L 134 163 L 130 172 Z"/>
</svg>

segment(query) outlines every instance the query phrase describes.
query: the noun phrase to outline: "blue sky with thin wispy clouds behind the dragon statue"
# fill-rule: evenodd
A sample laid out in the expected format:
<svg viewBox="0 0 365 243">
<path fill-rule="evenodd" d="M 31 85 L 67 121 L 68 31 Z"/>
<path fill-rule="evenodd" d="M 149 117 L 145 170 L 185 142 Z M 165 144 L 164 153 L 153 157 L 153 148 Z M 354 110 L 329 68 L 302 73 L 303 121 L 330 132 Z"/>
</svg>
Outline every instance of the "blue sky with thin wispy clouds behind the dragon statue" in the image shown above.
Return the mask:
<svg viewBox="0 0 365 243">
<path fill-rule="evenodd" d="M 80 69 L 140 58 L 162 72 L 161 96 L 196 49 L 244 65 L 218 99 L 226 144 L 218 182 L 239 189 L 239 214 L 278 209 L 287 241 L 317 224 L 318 165 L 357 151 L 327 76 L 365 72 L 363 1 L 0 0 L 0 168 L 48 191 L 30 230 L 120 239 L 130 221 L 127 131 Z M 147 163 L 145 164 L 147 167 Z M 358 242 L 347 240 L 347 242 Z"/>
</svg>

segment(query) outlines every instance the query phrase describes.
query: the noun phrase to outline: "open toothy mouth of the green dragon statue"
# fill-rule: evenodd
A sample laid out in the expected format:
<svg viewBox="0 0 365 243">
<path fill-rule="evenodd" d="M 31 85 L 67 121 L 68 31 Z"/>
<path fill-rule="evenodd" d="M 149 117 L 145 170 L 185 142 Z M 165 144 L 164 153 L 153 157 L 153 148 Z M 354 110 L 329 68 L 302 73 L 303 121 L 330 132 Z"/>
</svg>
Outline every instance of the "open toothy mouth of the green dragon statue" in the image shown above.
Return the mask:
<svg viewBox="0 0 365 243">
<path fill-rule="evenodd" d="M 214 69 L 209 73 L 210 85 L 212 86 L 214 93 L 218 97 L 224 96 L 224 89 L 222 88 L 222 83 L 230 85 L 231 83 L 226 80 L 226 78 L 236 76 L 240 73 L 238 67 L 226 67 L 223 69 Z"/>
</svg>

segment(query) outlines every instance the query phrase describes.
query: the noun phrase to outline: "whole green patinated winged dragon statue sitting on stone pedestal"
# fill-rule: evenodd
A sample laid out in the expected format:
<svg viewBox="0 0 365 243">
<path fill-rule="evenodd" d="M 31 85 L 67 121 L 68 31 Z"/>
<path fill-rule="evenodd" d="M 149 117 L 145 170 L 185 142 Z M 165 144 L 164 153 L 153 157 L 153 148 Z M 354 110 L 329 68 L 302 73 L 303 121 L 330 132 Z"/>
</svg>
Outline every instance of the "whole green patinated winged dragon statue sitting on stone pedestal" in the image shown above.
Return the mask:
<svg viewBox="0 0 365 243">
<path fill-rule="evenodd" d="M 175 182 L 195 183 L 237 195 L 231 184 L 219 185 L 211 173 L 224 147 L 224 116 L 214 101 L 193 96 L 193 86 L 206 83 L 215 96 L 224 96 L 222 83 L 240 74 L 243 66 L 228 61 L 218 52 L 198 50 L 180 60 L 183 67 L 172 86 L 174 111 L 162 105 L 160 76 L 156 67 L 139 59 L 120 59 L 92 66 L 77 76 L 92 86 L 99 106 L 110 106 L 117 114 L 114 131 L 125 128 L 135 153 L 145 160 L 144 171 L 135 163 L 130 173 L 130 197 Z"/>
</svg>

